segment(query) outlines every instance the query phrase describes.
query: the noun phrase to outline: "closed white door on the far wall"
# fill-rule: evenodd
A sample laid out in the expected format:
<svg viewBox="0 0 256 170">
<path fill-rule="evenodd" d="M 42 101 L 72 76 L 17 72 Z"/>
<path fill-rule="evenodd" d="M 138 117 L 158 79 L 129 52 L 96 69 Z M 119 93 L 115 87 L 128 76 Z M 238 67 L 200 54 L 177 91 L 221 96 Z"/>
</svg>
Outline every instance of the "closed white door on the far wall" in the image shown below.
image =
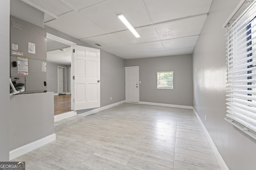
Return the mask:
<svg viewBox="0 0 256 170">
<path fill-rule="evenodd" d="M 125 101 L 139 102 L 139 67 L 125 67 Z"/>
</svg>

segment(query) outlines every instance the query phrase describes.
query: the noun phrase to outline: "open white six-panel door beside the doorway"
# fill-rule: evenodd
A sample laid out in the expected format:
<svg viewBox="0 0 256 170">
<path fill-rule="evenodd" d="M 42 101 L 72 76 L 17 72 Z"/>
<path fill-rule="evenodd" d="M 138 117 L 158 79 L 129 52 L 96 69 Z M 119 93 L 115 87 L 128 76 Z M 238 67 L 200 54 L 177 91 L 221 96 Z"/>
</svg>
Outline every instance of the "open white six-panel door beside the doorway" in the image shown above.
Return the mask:
<svg viewBox="0 0 256 170">
<path fill-rule="evenodd" d="M 76 45 L 74 63 L 74 110 L 100 107 L 100 49 Z"/>
</svg>

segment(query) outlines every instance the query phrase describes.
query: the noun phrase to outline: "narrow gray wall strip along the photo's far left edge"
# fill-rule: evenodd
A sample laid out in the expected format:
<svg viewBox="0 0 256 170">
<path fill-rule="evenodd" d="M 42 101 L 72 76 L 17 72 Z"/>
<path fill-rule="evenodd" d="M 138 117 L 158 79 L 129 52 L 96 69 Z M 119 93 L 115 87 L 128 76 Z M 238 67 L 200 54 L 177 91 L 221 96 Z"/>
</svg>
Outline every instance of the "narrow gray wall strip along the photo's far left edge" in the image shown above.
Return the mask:
<svg viewBox="0 0 256 170">
<path fill-rule="evenodd" d="M 0 161 L 9 161 L 9 116 L 10 116 L 10 1 L 0 5 Z"/>
</svg>

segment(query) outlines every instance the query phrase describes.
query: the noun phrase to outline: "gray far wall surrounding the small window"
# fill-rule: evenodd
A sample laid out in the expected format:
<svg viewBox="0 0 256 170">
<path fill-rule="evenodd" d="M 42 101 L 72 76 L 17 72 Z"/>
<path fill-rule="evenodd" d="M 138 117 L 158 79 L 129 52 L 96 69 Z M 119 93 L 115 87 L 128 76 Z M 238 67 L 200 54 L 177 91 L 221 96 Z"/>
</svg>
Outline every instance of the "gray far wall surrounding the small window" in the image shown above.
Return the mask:
<svg viewBox="0 0 256 170">
<path fill-rule="evenodd" d="M 193 105 L 192 55 L 129 59 L 125 66 L 139 66 L 140 102 Z M 173 71 L 173 89 L 157 88 L 158 71 Z"/>
</svg>

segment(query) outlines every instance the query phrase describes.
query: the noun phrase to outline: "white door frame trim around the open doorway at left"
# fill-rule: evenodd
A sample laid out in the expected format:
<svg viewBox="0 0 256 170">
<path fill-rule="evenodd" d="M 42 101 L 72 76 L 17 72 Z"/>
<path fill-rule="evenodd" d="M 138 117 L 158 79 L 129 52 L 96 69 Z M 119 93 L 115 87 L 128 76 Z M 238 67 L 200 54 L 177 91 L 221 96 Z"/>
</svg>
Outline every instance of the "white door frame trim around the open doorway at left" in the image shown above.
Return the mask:
<svg viewBox="0 0 256 170">
<path fill-rule="evenodd" d="M 74 43 L 72 41 L 69 41 L 69 40 L 66 40 L 64 38 L 58 37 L 58 36 L 53 35 L 51 33 L 46 33 L 46 38 L 71 46 L 70 57 L 72 57 L 71 58 L 71 68 L 72 68 L 71 69 L 71 77 L 72 77 L 73 69 L 74 69 L 74 66 L 73 66 L 73 49 L 75 49 L 76 43 Z M 74 93 L 73 93 L 73 91 L 74 91 L 74 81 L 73 81 L 72 78 L 71 78 L 70 86 L 71 86 L 71 92 L 70 92 L 71 93 L 71 110 L 74 110 Z"/>
</svg>

